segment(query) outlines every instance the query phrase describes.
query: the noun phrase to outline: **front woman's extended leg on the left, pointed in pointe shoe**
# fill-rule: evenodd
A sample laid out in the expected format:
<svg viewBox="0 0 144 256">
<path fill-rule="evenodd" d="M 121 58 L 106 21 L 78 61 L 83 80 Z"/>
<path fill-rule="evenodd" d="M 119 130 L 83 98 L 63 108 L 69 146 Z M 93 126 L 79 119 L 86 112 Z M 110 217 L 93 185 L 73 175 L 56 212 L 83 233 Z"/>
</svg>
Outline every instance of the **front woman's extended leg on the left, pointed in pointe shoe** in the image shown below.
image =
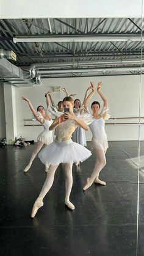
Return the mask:
<svg viewBox="0 0 144 256">
<path fill-rule="evenodd" d="M 53 182 L 54 182 L 54 175 L 57 169 L 57 166 L 49 166 L 49 171 L 45 180 L 45 183 L 43 185 L 43 188 L 41 189 L 41 192 L 37 198 L 37 200 L 34 203 L 34 206 L 32 208 L 31 217 L 34 218 L 35 214 L 37 213 L 38 209 L 43 206 L 43 198 L 48 193 L 49 189 L 51 188 Z"/>
</svg>

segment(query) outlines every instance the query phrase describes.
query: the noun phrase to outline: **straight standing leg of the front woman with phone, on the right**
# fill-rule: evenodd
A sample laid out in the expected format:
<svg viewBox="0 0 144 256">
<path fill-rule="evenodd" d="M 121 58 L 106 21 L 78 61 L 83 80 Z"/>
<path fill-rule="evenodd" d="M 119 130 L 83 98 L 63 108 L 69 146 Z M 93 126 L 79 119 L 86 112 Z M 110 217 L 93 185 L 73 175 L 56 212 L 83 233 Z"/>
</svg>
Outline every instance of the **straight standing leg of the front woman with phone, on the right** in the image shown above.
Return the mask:
<svg viewBox="0 0 144 256">
<path fill-rule="evenodd" d="M 67 163 L 65 164 L 65 204 L 67 205 L 68 208 L 71 210 L 74 210 L 74 205 L 73 203 L 70 202 L 70 193 L 71 193 L 71 188 L 73 186 L 73 174 L 72 174 L 72 167 L 73 163 Z"/>
</svg>

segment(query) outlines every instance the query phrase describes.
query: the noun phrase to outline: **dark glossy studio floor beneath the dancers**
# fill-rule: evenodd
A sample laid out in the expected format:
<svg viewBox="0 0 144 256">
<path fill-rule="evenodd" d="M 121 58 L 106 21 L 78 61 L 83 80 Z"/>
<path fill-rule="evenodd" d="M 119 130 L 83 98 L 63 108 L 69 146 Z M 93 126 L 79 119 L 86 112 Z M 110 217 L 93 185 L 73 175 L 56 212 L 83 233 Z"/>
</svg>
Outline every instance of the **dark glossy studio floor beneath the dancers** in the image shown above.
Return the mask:
<svg viewBox="0 0 144 256">
<path fill-rule="evenodd" d="M 92 155 L 73 166 L 71 202 L 64 205 L 65 176 L 60 165 L 44 206 L 31 219 L 32 205 L 46 178 L 38 157 L 23 170 L 35 145 L 0 148 L 1 256 L 136 256 L 138 142 L 109 142 L 107 164 L 101 172 L 106 186 L 83 192 L 95 163 Z M 88 142 L 90 148 L 90 142 Z M 138 255 L 144 255 L 144 142 L 140 149 L 140 214 Z"/>
</svg>

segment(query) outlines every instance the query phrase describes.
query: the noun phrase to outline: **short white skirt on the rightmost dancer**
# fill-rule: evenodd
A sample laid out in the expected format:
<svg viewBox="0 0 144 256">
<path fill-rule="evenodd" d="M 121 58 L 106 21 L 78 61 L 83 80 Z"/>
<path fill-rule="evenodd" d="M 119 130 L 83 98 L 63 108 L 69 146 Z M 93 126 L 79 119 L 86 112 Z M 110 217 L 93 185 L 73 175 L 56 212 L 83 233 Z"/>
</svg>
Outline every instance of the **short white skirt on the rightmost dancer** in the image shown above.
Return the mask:
<svg viewBox="0 0 144 256">
<path fill-rule="evenodd" d="M 103 137 L 92 137 L 92 148 L 104 150 L 104 152 L 106 153 L 108 147 L 109 145 L 106 135 L 104 135 Z"/>
</svg>

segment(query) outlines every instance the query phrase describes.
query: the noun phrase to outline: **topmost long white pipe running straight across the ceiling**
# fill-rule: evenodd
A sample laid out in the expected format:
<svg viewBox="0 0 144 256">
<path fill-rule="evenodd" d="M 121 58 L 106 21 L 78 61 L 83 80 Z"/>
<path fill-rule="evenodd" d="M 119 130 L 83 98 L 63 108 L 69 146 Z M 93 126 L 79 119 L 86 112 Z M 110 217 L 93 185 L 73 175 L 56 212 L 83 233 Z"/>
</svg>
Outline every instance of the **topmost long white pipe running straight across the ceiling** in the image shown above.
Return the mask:
<svg viewBox="0 0 144 256">
<path fill-rule="evenodd" d="M 95 35 L 23 35 L 13 37 L 13 42 L 140 42 L 144 40 L 142 35 L 123 34 L 95 34 Z"/>
</svg>

